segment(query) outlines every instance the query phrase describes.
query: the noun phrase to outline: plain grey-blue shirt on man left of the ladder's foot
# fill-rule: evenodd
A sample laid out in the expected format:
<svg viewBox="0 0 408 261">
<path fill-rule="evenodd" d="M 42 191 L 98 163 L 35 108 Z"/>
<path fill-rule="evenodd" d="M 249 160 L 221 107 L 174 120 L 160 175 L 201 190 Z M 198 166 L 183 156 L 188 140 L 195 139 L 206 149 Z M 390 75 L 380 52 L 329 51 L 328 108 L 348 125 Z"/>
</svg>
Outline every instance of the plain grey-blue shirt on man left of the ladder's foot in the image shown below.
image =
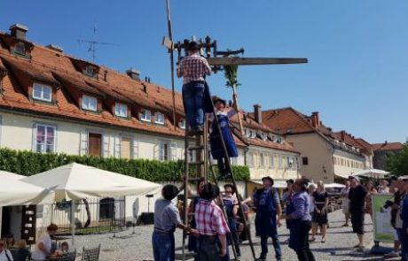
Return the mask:
<svg viewBox="0 0 408 261">
<path fill-rule="evenodd" d="M 181 220 L 177 207 L 164 198 L 156 200 L 154 204 L 154 228 L 170 232 L 178 224 L 181 224 Z"/>
</svg>

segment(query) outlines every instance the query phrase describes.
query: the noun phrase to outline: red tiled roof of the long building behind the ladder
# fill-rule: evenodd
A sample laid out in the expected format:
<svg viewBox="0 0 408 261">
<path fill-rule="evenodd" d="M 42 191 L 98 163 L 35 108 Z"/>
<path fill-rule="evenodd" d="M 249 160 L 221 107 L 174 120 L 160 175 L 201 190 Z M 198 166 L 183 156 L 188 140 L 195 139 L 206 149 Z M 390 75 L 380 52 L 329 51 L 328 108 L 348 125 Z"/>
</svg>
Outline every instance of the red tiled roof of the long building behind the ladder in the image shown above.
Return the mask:
<svg viewBox="0 0 408 261">
<path fill-rule="evenodd" d="M 0 40 L 4 37 L 7 38 L 8 42 L 17 41 L 12 39 L 10 35 L 0 33 Z M 164 126 L 156 126 L 141 122 L 137 119 L 137 115 L 133 114 L 130 119 L 119 119 L 114 117 L 112 111 L 105 110 L 105 108 L 100 113 L 82 111 L 70 94 L 70 91 L 75 88 L 105 98 L 112 97 L 114 100 L 135 104 L 141 108 L 165 112 L 171 116 L 172 91 L 169 88 L 163 88 L 150 82 L 135 81 L 129 75 L 115 72 L 101 65 L 95 65 L 99 70 L 98 79 L 95 79 L 84 75 L 79 70 L 79 67 L 83 65 L 94 64 L 36 44 L 32 44 L 32 49 L 29 50 L 30 59 L 18 58 L 12 55 L 7 48 L 8 45 L 0 47 L 0 68 L 3 65 L 2 61 L 4 61 L 4 69 L 10 69 L 19 78 L 24 78 L 26 81 L 42 81 L 61 88 L 56 89 L 55 104 L 35 103 L 22 91 L 19 82 L 15 81 L 18 79 L 14 79 L 12 75 L 6 76 L 3 82 L 4 93 L 0 97 L 0 107 L 28 113 L 35 111 L 37 114 L 127 127 L 158 134 L 184 136 L 184 130 L 178 127 L 175 129 L 169 117 L 166 117 Z M 177 115 L 184 117 L 181 94 L 176 92 L 175 99 Z M 245 127 L 265 133 L 273 132 L 266 125 L 257 123 L 249 113 L 241 111 L 240 114 Z M 236 119 L 232 120 L 235 121 Z M 287 142 L 263 141 L 258 137 L 247 139 L 240 134 L 234 138 L 238 146 L 252 144 L 264 148 L 295 152 L 294 148 Z"/>
</svg>

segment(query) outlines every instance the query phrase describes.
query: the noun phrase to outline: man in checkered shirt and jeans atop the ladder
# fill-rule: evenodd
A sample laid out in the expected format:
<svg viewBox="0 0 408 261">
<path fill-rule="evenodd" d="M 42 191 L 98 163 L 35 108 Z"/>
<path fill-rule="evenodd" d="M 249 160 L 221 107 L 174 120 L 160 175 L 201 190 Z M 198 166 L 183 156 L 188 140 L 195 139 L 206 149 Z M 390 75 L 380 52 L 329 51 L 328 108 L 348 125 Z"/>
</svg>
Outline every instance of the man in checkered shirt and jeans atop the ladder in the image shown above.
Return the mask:
<svg viewBox="0 0 408 261">
<path fill-rule="evenodd" d="M 183 103 L 190 125 L 190 134 L 202 132 L 204 122 L 204 76 L 211 74 L 207 59 L 200 57 L 200 44 L 188 44 L 188 56 L 177 67 L 177 77 L 183 77 Z"/>
</svg>

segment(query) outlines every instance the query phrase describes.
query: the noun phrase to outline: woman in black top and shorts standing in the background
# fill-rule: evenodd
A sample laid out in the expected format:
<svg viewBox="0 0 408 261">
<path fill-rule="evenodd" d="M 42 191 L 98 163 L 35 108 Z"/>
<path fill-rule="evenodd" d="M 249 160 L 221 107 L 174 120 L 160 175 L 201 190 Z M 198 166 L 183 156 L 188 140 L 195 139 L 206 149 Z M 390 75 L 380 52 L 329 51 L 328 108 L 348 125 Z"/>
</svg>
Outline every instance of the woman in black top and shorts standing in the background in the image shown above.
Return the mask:
<svg viewBox="0 0 408 261">
<path fill-rule="evenodd" d="M 320 227 L 320 234 L 322 235 L 321 242 L 326 242 L 326 229 L 327 229 L 327 205 L 329 203 L 329 197 L 325 189 L 325 184 L 322 180 L 318 181 L 318 189 L 313 193 L 313 201 L 315 210 L 313 212 L 313 226 L 311 232 L 310 242 L 316 240 L 315 235 Z"/>
</svg>

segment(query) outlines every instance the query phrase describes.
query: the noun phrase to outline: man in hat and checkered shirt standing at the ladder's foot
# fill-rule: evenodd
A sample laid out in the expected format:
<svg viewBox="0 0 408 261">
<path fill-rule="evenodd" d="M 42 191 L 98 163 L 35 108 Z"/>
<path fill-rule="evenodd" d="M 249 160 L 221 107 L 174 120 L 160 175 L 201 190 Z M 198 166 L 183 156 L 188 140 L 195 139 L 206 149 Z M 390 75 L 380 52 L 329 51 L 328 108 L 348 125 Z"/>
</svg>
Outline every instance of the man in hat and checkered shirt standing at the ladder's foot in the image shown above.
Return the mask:
<svg viewBox="0 0 408 261">
<path fill-rule="evenodd" d="M 195 208 L 199 231 L 199 260 L 218 261 L 227 255 L 226 234 L 230 233 L 223 211 L 213 200 L 219 195 L 216 185 L 207 183 L 200 191 L 200 203 Z M 219 249 L 221 243 L 221 249 Z"/>
</svg>

